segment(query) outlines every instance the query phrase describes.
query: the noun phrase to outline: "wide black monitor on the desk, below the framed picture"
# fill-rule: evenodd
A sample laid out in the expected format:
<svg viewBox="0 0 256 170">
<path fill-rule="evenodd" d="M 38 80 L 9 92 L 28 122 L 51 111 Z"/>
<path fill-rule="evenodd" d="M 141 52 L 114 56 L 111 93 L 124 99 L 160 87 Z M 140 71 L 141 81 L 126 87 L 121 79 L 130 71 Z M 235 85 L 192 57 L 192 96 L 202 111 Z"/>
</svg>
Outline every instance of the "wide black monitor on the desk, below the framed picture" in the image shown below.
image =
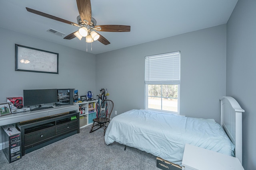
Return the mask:
<svg viewBox="0 0 256 170">
<path fill-rule="evenodd" d="M 57 102 L 57 89 L 23 90 L 24 107 Z"/>
</svg>

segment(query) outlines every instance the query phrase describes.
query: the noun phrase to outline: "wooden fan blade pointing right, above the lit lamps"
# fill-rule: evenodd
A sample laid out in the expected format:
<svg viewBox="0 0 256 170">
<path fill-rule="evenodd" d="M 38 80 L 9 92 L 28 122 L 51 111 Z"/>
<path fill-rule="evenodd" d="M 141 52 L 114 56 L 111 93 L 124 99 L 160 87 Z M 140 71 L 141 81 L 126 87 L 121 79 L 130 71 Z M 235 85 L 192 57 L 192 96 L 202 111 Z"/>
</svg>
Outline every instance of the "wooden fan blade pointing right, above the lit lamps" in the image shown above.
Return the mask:
<svg viewBox="0 0 256 170">
<path fill-rule="evenodd" d="M 101 30 L 97 29 L 97 27 L 101 27 Z M 94 28 L 97 31 L 130 32 L 131 26 L 129 25 L 96 25 Z"/>
</svg>

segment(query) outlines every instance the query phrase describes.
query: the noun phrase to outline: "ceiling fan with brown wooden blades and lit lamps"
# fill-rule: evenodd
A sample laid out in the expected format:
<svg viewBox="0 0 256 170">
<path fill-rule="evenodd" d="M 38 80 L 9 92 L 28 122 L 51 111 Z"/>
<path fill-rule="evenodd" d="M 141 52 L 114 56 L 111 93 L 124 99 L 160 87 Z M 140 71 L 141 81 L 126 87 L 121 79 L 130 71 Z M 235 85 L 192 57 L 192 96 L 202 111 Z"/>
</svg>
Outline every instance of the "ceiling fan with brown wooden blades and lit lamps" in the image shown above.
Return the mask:
<svg viewBox="0 0 256 170">
<path fill-rule="evenodd" d="M 64 39 L 73 39 L 78 37 L 78 39 L 82 39 L 82 37 L 86 37 L 86 42 L 91 43 L 93 41 L 100 41 L 104 45 L 110 44 L 110 42 L 97 33 L 96 31 L 106 31 L 106 32 L 129 32 L 129 25 L 96 25 L 96 20 L 92 18 L 92 8 L 90 0 L 76 0 L 79 16 L 77 17 L 77 22 L 74 23 L 68 20 L 64 20 L 62 18 L 58 18 L 56 16 L 52 16 L 50 14 L 46 14 L 44 12 L 40 12 L 37 10 L 33 10 L 31 8 L 27 8 L 28 12 L 32 12 L 34 14 L 44 16 L 46 18 L 50 18 L 52 20 L 68 23 L 77 27 L 80 27 L 78 31 L 70 33 Z"/>
</svg>

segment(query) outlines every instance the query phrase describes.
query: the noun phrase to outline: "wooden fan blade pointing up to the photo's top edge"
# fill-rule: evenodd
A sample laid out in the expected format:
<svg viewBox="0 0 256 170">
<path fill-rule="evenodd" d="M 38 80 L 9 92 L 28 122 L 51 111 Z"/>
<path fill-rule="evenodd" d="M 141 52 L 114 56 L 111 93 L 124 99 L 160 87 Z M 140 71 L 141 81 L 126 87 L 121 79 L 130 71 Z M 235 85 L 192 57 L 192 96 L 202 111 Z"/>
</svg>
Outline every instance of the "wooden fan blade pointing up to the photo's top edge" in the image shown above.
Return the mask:
<svg viewBox="0 0 256 170">
<path fill-rule="evenodd" d="M 91 7 L 91 1 L 90 0 L 76 0 L 77 8 L 79 15 L 81 17 L 81 20 L 88 21 L 88 25 L 91 23 L 92 19 L 92 7 Z"/>
</svg>

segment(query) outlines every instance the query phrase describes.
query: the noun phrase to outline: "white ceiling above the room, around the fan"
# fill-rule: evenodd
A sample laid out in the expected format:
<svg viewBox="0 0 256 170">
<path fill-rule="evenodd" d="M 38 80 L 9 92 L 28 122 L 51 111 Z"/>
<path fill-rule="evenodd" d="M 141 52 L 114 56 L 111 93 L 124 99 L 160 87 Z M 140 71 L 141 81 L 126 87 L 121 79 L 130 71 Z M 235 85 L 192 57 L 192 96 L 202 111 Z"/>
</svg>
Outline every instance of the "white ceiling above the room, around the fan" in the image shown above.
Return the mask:
<svg viewBox="0 0 256 170">
<path fill-rule="evenodd" d="M 101 31 L 110 44 L 94 41 L 91 51 L 88 43 L 88 53 L 104 53 L 227 23 L 237 1 L 91 0 L 97 25 L 130 25 L 131 31 Z M 46 32 L 52 28 L 68 35 L 78 27 L 27 12 L 26 7 L 77 23 L 76 0 L 0 0 L 0 27 L 86 51 L 85 38 L 67 40 Z"/>
</svg>

